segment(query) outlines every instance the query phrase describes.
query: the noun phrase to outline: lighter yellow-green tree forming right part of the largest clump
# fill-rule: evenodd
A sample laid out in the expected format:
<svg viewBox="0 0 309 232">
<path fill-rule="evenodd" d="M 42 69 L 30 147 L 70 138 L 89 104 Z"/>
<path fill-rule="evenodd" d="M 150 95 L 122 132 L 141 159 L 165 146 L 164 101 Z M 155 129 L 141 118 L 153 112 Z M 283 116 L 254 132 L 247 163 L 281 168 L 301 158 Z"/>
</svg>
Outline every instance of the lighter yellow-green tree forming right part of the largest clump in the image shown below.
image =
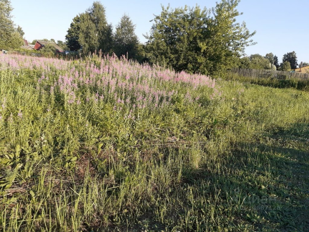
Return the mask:
<svg viewBox="0 0 309 232">
<path fill-rule="evenodd" d="M 244 55 L 245 48 L 254 45 L 250 39 L 256 32 L 249 32 L 246 23 L 236 23 L 236 17 L 242 15 L 236 7 L 240 0 L 222 0 L 211 9 L 212 15 L 206 21 L 206 37 L 202 51 L 207 58 L 210 74 L 225 71 L 237 63 Z"/>
</svg>

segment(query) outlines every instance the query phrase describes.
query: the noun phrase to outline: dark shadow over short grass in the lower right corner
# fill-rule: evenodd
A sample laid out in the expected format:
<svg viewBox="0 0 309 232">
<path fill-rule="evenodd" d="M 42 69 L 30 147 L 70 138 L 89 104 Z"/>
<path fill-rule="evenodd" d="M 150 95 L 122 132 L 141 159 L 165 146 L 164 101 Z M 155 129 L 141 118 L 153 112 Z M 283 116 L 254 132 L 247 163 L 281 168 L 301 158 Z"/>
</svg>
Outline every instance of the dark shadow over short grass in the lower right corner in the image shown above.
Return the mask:
<svg viewBox="0 0 309 232">
<path fill-rule="evenodd" d="M 183 177 L 195 186 L 210 181 L 208 193 L 220 191 L 220 205 L 235 216 L 235 225 L 240 220 L 259 231 L 308 231 L 308 128 L 298 123 L 263 142 L 235 144 L 224 171 L 188 168 Z"/>
</svg>

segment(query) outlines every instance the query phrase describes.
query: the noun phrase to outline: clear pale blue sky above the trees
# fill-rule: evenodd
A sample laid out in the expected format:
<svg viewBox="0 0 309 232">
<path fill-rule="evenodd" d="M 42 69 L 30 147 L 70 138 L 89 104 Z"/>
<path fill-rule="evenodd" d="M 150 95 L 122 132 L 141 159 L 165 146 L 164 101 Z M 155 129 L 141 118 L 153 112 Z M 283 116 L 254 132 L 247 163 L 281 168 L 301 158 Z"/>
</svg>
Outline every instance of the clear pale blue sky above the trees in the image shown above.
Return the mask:
<svg viewBox="0 0 309 232">
<path fill-rule="evenodd" d="M 217 0 L 219 1 L 219 0 Z M 91 6 L 92 0 L 11 0 L 14 8 L 13 20 L 25 32 L 28 41 L 34 39 L 55 39 L 65 41 L 66 31 L 74 16 Z M 141 42 L 146 42 L 143 34 L 150 31 L 155 15 L 161 12 L 161 4 L 172 8 L 185 5 L 211 8 L 216 0 L 127 0 L 104 1 L 106 16 L 115 27 L 126 13 L 136 24 L 136 34 Z M 283 54 L 295 51 L 298 63 L 309 62 L 309 0 L 242 0 L 238 7 L 243 15 L 238 21 L 245 21 L 247 28 L 256 35 L 252 39 L 256 45 L 246 49 L 246 53 L 265 55 L 272 52 L 281 62 Z"/>
</svg>

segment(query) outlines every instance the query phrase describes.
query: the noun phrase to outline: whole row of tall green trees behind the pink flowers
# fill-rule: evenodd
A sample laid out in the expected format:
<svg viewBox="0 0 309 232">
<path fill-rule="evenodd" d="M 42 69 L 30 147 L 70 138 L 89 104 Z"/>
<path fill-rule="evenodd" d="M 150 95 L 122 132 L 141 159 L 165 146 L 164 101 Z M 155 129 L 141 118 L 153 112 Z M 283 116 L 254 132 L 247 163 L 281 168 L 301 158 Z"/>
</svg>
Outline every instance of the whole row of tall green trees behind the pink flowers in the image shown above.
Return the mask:
<svg viewBox="0 0 309 232">
<path fill-rule="evenodd" d="M 117 56 L 148 60 L 176 71 L 212 74 L 235 66 L 246 46 L 254 44 L 246 24 L 236 23 L 240 13 L 239 0 L 222 0 L 216 7 L 201 9 L 170 9 L 162 6 L 160 15 L 153 19 L 146 45 L 141 45 L 135 25 L 123 15 L 112 33 L 105 8 L 99 2 L 82 14 L 76 15 L 66 35 L 70 50 L 87 54 L 101 49 Z"/>
</svg>

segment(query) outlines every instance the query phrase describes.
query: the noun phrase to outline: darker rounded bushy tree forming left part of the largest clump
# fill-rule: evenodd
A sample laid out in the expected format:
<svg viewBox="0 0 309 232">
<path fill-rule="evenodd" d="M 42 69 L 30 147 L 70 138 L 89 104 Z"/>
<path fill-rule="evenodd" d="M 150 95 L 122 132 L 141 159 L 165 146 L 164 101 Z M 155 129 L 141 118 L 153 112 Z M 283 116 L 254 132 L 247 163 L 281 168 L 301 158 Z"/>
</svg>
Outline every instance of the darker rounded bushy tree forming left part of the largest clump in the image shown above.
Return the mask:
<svg viewBox="0 0 309 232">
<path fill-rule="evenodd" d="M 207 10 L 199 6 L 176 8 L 162 6 L 160 15 L 155 16 L 146 44 L 150 62 L 173 67 L 176 71 L 206 73 L 202 54 L 202 27 L 207 19 Z"/>
</svg>

